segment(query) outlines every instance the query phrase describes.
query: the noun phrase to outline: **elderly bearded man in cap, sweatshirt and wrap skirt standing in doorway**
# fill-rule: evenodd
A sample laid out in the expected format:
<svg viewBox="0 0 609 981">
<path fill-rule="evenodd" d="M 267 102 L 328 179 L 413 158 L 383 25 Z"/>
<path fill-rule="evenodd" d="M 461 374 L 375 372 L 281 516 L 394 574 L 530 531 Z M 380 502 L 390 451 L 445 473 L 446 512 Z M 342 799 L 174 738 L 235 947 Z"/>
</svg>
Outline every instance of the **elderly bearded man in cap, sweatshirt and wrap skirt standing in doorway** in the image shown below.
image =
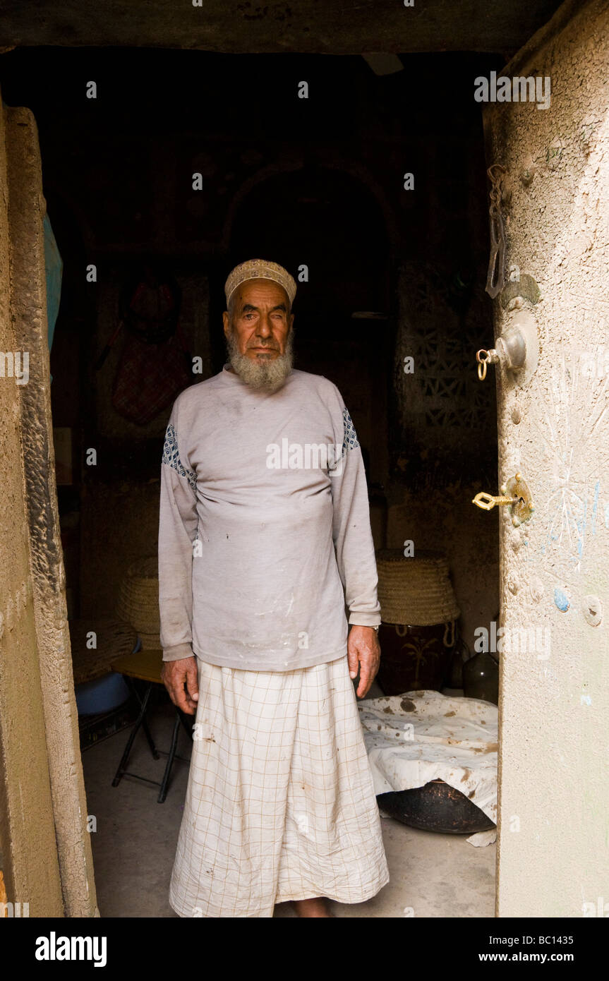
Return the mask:
<svg viewBox="0 0 609 981">
<path fill-rule="evenodd" d="M 232 270 L 229 363 L 167 428 L 163 681 L 196 711 L 180 916 L 328 916 L 388 881 L 352 681 L 380 659 L 366 477 L 338 389 L 292 369 L 295 292 L 276 263 Z"/>
</svg>

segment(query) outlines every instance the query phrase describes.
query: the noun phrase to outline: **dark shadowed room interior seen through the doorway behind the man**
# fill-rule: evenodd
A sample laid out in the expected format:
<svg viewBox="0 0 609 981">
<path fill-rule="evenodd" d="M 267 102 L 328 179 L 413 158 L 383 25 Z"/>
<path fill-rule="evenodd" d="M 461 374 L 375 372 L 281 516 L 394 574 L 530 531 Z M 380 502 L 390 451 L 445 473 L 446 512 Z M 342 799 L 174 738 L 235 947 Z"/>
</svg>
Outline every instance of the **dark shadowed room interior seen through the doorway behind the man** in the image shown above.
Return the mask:
<svg viewBox="0 0 609 981">
<path fill-rule="evenodd" d="M 228 270 L 258 256 L 290 269 L 296 367 L 326 375 L 343 394 L 365 450 L 378 547 L 412 541 L 415 554 L 445 555 L 472 652 L 475 631 L 496 620 L 496 516 L 472 506 L 478 490 L 497 485 L 494 387 L 479 381 L 475 363 L 492 322 L 472 87 L 501 60 L 400 60 L 400 71 L 378 76 L 359 56 L 52 48 L 3 56 L 5 102 L 28 106 L 38 124 L 64 259 L 51 373 L 69 616 L 82 633 L 75 651 L 88 649 L 89 631 L 120 619 L 127 569 L 156 549 L 171 405 L 137 423 L 113 401 L 126 343 L 125 332 L 115 337 L 121 296 L 146 264 L 178 284 L 185 347 L 199 359 L 195 384 L 222 367 Z M 38 83 L 48 75 L 52 92 Z M 85 77 L 96 78 L 95 99 Z M 152 636 L 152 621 L 140 632 Z M 450 684 L 458 672 L 444 682 L 458 694 Z M 112 788 L 132 721 L 127 710 L 112 715 L 121 706 L 106 711 L 82 753 L 99 906 L 104 916 L 169 916 L 186 771 L 177 767 L 163 805 L 144 785 Z M 169 740 L 170 707 L 160 704 L 155 719 L 158 741 Z M 163 766 L 143 741 L 134 752 L 134 769 Z M 492 845 L 383 821 L 395 884 L 361 915 L 413 905 L 422 916 L 493 915 Z M 399 885 L 404 855 L 408 889 L 422 887 L 414 901 Z"/>
</svg>

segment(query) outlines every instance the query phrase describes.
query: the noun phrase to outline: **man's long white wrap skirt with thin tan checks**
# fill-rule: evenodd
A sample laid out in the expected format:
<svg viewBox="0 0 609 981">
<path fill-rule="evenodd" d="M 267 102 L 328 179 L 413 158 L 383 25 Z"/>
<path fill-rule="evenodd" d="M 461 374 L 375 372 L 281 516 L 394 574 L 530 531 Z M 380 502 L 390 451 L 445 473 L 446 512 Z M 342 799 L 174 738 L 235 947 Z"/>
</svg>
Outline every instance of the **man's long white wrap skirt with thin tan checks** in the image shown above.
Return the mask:
<svg viewBox="0 0 609 981">
<path fill-rule="evenodd" d="M 199 703 L 170 903 L 180 916 L 273 916 L 388 882 L 346 655 L 294 671 L 197 659 Z"/>
</svg>

